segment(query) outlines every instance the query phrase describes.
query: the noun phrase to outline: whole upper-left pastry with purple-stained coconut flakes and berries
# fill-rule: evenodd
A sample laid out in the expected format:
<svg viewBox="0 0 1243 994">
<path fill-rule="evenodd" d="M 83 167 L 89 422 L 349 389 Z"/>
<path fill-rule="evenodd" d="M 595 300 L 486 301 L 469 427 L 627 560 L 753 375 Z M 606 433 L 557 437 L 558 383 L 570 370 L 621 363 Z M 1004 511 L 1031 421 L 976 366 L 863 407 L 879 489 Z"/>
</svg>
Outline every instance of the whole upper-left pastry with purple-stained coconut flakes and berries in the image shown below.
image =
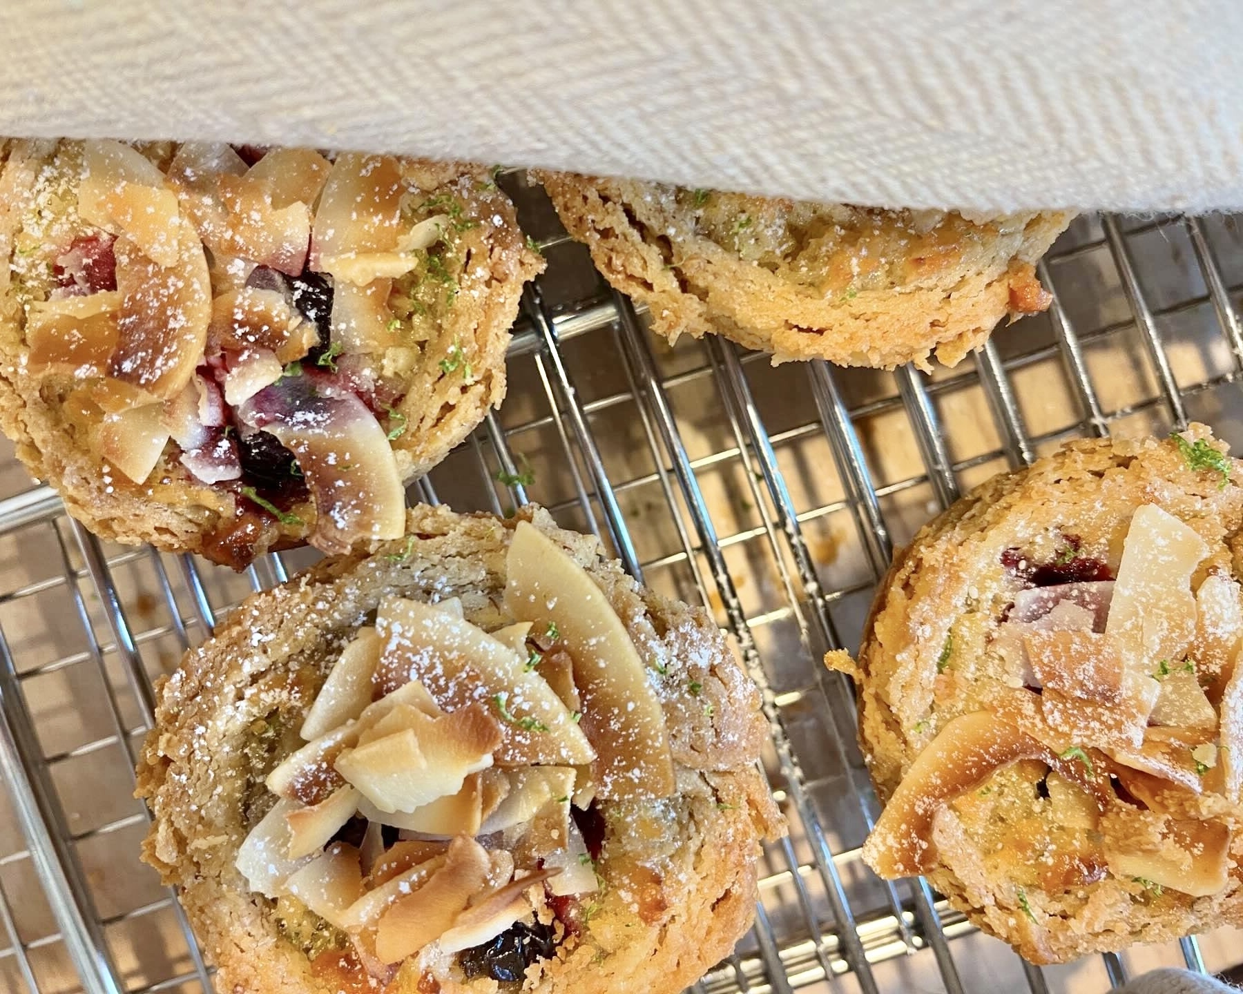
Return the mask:
<svg viewBox="0 0 1243 994">
<path fill-rule="evenodd" d="M 0 139 L 0 425 L 96 533 L 244 568 L 401 534 L 542 268 L 472 165 Z"/>
</svg>

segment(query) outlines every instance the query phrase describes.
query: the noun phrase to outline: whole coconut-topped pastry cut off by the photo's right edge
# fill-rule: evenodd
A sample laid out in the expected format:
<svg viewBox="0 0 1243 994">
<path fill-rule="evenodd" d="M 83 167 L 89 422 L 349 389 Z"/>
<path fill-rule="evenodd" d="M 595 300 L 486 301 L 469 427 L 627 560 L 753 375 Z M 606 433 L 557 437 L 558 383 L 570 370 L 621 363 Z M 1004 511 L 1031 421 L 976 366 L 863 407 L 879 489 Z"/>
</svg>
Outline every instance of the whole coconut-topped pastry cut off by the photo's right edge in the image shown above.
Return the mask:
<svg viewBox="0 0 1243 994">
<path fill-rule="evenodd" d="M 827 657 L 878 873 L 1035 963 L 1243 924 L 1241 480 L 1203 425 L 1071 442 L 916 536 Z"/>
</svg>

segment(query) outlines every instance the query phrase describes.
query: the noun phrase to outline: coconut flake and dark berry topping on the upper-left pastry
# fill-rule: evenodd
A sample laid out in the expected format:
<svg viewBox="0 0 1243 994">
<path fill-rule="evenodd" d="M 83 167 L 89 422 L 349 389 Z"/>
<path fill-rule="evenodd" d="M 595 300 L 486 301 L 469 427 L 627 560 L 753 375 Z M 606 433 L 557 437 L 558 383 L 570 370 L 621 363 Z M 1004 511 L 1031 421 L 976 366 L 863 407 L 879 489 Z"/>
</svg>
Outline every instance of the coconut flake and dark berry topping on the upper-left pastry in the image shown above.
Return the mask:
<svg viewBox="0 0 1243 994">
<path fill-rule="evenodd" d="M 462 232 L 485 224 L 456 195 L 476 179 L 425 190 L 390 157 L 108 140 L 55 170 L 56 220 L 17 235 L 26 369 L 108 482 L 229 492 L 237 536 L 216 544 L 237 565 L 251 519 L 326 552 L 399 536 L 409 374 L 444 354 L 474 376 L 438 335 Z"/>
</svg>

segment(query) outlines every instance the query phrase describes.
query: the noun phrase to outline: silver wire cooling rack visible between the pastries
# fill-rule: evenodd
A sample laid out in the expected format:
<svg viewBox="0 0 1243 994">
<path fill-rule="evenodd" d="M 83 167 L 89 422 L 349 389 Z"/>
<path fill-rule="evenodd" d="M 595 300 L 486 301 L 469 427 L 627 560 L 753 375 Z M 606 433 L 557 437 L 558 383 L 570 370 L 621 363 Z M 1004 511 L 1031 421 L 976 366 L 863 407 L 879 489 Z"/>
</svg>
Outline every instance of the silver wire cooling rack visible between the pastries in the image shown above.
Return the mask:
<svg viewBox="0 0 1243 994">
<path fill-rule="evenodd" d="M 850 691 L 819 662 L 858 646 L 894 545 L 992 473 L 1069 437 L 1188 420 L 1243 445 L 1234 219 L 1079 219 L 1040 267 L 1049 313 L 927 376 L 773 368 L 723 340 L 670 348 L 542 193 L 505 181 L 548 272 L 523 299 L 505 408 L 413 497 L 498 513 L 539 501 L 736 637 L 763 688 L 764 767 L 791 836 L 764 852 L 756 927 L 699 994 L 1095 994 L 1158 964 L 1243 959 L 1243 937 L 1222 931 L 1035 969 L 922 881 L 876 880 L 859 859 L 878 808 Z M 137 859 L 147 815 L 132 758 L 152 680 L 241 596 L 314 555 L 234 574 L 113 547 L 30 487 L 0 460 L 0 989 L 205 994 L 180 908 Z"/>
</svg>

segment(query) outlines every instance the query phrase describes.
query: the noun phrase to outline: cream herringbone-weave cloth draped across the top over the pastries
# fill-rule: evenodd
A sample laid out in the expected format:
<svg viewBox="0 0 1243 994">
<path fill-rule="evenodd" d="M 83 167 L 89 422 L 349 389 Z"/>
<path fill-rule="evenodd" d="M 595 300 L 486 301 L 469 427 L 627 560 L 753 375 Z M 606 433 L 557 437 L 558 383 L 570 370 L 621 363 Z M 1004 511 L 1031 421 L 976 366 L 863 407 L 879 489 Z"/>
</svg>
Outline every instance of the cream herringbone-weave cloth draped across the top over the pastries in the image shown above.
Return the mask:
<svg viewBox="0 0 1243 994">
<path fill-rule="evenodd" d="M 1239 0 L 5 0 L 0 133 L 873 206 L 1243 207 Z"/>
</svg>

